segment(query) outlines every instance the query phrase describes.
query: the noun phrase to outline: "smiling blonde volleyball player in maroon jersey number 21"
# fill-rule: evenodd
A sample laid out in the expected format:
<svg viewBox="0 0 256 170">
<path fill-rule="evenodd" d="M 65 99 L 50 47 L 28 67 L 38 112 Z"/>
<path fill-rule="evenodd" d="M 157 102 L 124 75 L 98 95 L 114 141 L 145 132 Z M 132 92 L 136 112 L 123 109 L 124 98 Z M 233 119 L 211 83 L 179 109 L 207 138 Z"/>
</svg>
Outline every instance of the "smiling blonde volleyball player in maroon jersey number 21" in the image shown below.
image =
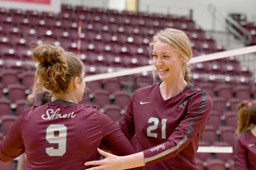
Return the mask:
<svg viewBox="0 0 256 170">
<path fill-rule="evenodd" d="M 124 135 L 136 136 L 137 153 L 118 157 L 98 149 L 106 158 L 86 162 L 99 165 L 90 169 L 198 169 L 195 156 L 212 99 L 189 82 L 192 49 L 183 31 L 165 28 L 152 40 L 149 50 L 162 82 L 137 89 L 120 120 Z"/>
</svg>

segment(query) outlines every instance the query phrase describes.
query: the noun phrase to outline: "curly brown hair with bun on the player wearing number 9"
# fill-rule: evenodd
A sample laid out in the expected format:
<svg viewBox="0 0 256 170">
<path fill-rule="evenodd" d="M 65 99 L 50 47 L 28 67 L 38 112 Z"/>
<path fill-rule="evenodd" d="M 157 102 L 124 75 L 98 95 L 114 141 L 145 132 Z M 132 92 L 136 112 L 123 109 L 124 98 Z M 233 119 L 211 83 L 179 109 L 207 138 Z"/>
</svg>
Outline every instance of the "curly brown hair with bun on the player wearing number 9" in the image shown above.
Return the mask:
<svg viewBox="0 0 256 170">
<path fill-rule="evenodd" d="M 83 62 L 72 52 L 60 46 L 40 44 L 35 47 L 32 58 L 39 62 L 36 68 L 36 87 L 40 92 L 65 94 L 73 77 L 80 77 L 84 71 Z"/>
</svg>

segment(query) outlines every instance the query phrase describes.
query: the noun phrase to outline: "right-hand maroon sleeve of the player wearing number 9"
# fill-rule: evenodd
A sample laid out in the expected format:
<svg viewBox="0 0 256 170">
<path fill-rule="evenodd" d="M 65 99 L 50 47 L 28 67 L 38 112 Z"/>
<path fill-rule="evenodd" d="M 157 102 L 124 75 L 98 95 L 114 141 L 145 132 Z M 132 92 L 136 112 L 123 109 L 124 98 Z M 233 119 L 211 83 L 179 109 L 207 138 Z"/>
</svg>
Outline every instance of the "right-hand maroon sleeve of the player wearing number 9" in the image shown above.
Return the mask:
<svg viewBox="0 0 256 170">
<path fill-rule="evenodd" d="M 115 155 L 125 156 L 136 153 L 128 139 L 120 128 L 107 115 L 97 111 L 100 130 L 103 138 L 102 143 Z"/>
</svg>

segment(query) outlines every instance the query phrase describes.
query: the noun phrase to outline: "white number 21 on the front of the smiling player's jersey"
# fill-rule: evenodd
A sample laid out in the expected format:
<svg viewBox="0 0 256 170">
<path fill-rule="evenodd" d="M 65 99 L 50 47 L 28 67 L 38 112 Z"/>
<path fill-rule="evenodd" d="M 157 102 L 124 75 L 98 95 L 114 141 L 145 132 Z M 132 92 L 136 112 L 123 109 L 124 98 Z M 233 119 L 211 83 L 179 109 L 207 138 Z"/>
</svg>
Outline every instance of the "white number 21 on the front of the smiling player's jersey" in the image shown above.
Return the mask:
<svg viewBox="0 0 256 170">
<path fill-rule="evenodd" d="M 161 124 L 162 124 L 162 139 L 166 138 L 166 136 L 165 136 L 166 121 L 167 121 L 167 119 L 162 119 L 161 120 Z M 151 130 L 156 130 L 157 129 L 159 120 L 157 118 L 149 118 L 148 119 L 148 123 L 151 123 L 151 122 L 154 122 L 154 125 L 149 126 L 147 128 L 147 136 L 155 137 L 156 138 L 157 137 L 157 133 L 152 133 Z"/>
</svg>

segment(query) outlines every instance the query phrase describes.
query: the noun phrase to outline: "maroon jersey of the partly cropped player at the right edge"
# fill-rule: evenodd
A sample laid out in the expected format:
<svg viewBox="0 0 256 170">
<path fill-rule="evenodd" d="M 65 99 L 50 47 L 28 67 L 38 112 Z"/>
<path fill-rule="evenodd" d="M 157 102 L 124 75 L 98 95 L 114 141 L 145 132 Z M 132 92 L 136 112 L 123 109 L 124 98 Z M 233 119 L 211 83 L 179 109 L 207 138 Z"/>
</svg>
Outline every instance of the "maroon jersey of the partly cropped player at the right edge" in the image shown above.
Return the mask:
<svg viewBox="0 0 256 170">
<path fill-rule="evenodd" d="M 236 169 L 256 169 L 256 137 L 251 130 L 236 136 L 233 143 L 233 156 Z"/>
</svg>

